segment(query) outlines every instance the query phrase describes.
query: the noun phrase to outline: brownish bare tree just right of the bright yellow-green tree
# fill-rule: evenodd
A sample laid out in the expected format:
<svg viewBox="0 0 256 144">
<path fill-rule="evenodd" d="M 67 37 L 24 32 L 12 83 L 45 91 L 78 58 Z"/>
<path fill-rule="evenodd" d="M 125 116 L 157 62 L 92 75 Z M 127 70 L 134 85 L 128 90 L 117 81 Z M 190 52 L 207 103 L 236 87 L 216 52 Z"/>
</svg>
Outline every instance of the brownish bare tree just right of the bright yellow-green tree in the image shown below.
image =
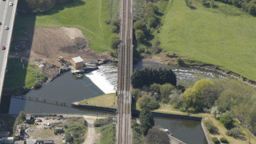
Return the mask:
<svg viewBox="0 0 256 144">
<path fill-rule="evenodd" d="M 204 106 L 211 108 L 214 105 L 214 101 L 218 99 L 217 91 L 209 86 L 202 89 L 202 95 Z"/>
</svg>

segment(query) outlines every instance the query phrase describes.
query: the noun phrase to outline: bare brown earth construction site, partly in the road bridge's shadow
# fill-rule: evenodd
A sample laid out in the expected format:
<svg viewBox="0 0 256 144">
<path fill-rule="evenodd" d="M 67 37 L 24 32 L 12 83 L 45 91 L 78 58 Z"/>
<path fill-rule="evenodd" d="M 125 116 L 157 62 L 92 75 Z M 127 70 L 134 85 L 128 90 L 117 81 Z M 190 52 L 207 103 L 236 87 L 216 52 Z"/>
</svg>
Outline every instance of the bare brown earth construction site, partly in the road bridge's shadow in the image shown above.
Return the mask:
<svg viewBox="0 0 256 144">
<path fill-rule="evenodd" d="M 79 74 L 97 69 L 97 65 L 104 62 L 115 61 L 108 52 L 94 52 L 88 39 L 77 28 L 30 27 L 24 34 L 25 36 L 15 38 L 15 52 L 10 52 L 9 57 L 35 60 L 48 81 L 58 77 L 61 71 L 71 70 L 72 73 Z M 83 68 L 72 65 L 72 58 L 76 57 L 83 59 Z"/>
</svg>

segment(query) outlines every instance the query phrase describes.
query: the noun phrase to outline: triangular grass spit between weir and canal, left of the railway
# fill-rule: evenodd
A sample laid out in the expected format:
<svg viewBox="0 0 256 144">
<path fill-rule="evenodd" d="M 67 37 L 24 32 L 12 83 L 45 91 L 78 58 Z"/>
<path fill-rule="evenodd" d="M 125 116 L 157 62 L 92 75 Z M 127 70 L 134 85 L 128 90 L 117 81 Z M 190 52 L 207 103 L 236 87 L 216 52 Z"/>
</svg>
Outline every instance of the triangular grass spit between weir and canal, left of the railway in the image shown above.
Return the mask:
<svg viewBox="0 0 256 144">
<path fill-rule="evenodd" d="M 82 100 L 79 102 L 81 105 L 91 105 L 91 106 L 102 106 L 102 107 L 115 107 L 116 94 L 109 93 L 103 94 L 98 97 L 91 99 Z"/>
</svg>

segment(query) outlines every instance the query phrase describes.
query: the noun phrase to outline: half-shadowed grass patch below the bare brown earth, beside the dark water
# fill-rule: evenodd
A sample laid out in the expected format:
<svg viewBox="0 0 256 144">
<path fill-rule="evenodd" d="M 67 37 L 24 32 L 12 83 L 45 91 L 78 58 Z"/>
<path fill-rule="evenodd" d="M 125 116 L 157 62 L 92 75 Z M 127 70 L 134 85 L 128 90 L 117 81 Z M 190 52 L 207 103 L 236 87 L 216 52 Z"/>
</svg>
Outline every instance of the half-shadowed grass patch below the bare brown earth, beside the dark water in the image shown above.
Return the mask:
<svg viewBox="0 0 256 144">
<path fill-rule="evenodd" d="M 32 87 L 36 83 L 36 77 L 38 82 L 44 82 L 46 80 L 46 75 L 39 74 L 39 67 L 36 65 L 35 61 L 30 62 L 20 62 L 20 60 L 15 63 L 17 59 L 8 59 L 7 61 L 7 73 L 5 74 L 5 81 L 3 92 L 15 93 L 22 86 Z M 22 65 L 24 64 L 24 69 Z M 34 68 L 32 66 L 34 66 Z M 36 73 L 36 74 L 33 74 Z"/>
</svg>

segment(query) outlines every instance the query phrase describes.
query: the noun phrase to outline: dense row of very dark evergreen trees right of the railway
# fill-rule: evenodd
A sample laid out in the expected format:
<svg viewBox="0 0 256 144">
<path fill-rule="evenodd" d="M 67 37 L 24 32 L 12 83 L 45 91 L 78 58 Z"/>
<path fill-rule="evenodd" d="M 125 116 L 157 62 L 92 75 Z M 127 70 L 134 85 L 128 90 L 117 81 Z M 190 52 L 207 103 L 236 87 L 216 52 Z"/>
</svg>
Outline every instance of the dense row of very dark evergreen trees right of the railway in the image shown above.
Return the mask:
<svg viewBox="0 0 256 144">
<path fill-rule="evenodd" d="M 143 85 L 156 84 L 165 84 L 170 83 L 172 85 L 177 84 L 176 75 L 171 69 L 135 69 L 131 76 L 131 84 L 134 89 L 141 88 Z"/>
</svg>

